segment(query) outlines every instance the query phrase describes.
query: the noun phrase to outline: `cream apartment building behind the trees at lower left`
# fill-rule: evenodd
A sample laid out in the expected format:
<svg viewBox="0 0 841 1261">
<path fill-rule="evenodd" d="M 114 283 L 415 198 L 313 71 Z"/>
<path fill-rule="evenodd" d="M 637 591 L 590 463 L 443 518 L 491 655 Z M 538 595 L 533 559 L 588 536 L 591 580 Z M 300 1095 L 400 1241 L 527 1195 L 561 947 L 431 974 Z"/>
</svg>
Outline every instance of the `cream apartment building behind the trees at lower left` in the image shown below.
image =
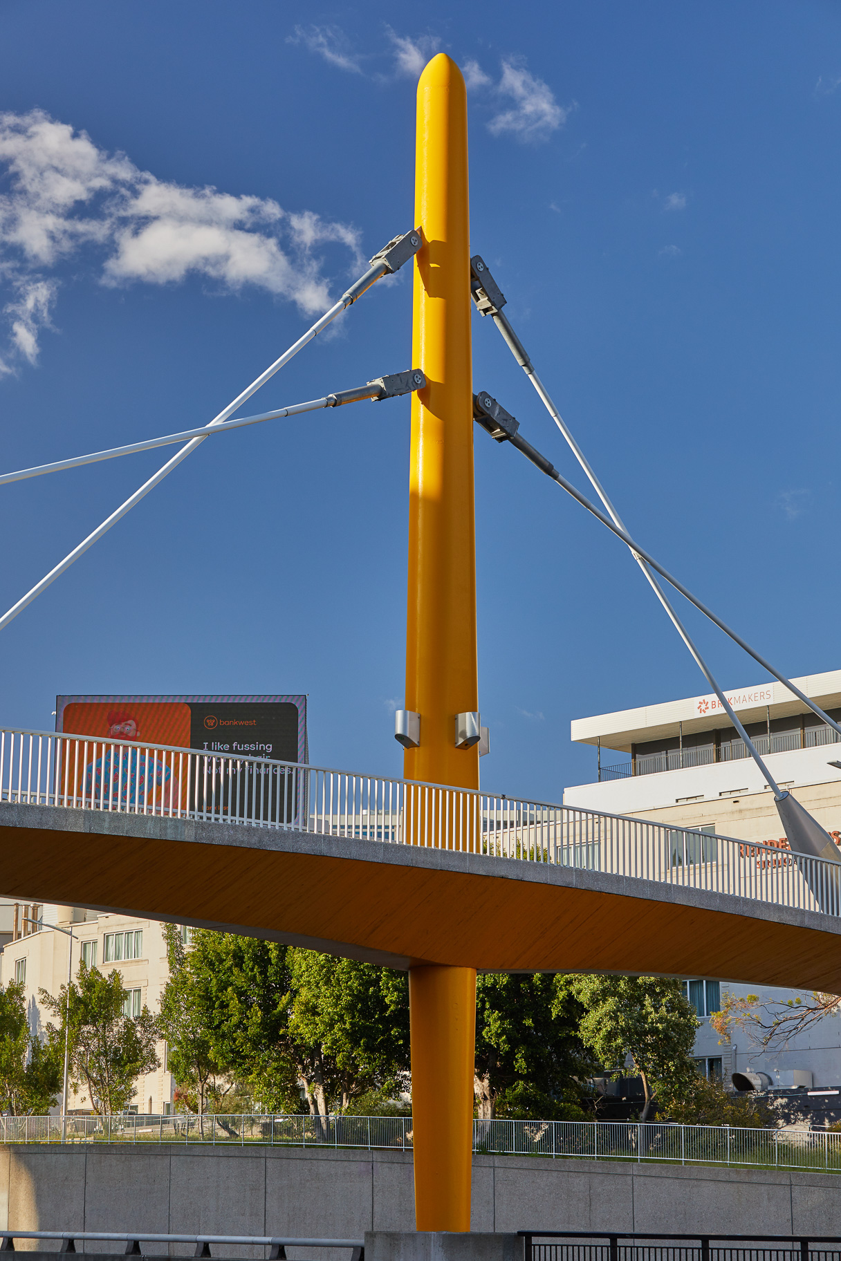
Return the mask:
<svg viewBox="0 0 841 1261">
<path fill-rule="evenodd" d="M 10 919 L 11 937 L 0 953 L 0 984 L 23 982 L 33 1033 L 43 1033 L 50 1020 L 55 1023 L 42 1004 L 39 991 L 44 989 L 57 995 L 67 984 L 68 963 L 76 977 L 82 960 L 101 972 L 116 968 L 121 973 L 127 991 L 126 1015 L 140 1015 L 144 1006 L 153 1013 L 159 1010 L 169 975 L 163 924 L 134 915 L 9 899 L 3 899 L 0 905 L 0 926 L 5 924 L 4 917 Z M 55 932 L 55 927 L 66 932 Z M 67 931 L 72 932 L 72 938 Z M 159 1068 L 137 1079 L 131 1111 L 154 1115 L 171 1111 L 175 1082 L 166 1068 L 166 1044 L 163 1042 L 158 1044 L 158 1058 Z M 83 1087 L 77 1095 L 71 1093 L 68 1111 L 91 1111 Z"/>
</svg>

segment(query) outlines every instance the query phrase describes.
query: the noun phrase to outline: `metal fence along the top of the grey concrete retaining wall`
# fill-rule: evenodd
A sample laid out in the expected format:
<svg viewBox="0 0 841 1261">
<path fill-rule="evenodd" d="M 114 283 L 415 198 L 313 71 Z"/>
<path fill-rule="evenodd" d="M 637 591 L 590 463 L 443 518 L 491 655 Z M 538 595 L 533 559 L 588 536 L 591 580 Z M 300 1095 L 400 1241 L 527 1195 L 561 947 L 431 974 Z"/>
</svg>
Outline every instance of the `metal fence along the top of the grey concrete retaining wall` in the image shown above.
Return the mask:
<svg viewBox="0 0 841 1261">
<path fill-rule="evenodd" d="M 411 1116 L 4 1116 L 0 1142 L 364 1148 L 411 1151 Z M 654 1121 L 479 1121 L 474 1153 L 841 1173 L 841 1132 Z"/>
</svg>

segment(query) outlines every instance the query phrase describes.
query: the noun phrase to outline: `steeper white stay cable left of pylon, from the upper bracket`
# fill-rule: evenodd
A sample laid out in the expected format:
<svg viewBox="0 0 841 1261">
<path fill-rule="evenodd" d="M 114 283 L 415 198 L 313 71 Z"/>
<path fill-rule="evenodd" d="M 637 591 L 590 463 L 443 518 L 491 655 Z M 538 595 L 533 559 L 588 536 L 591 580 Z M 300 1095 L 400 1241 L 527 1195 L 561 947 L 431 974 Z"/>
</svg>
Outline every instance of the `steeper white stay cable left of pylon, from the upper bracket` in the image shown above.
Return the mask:
<svg viewBox="0 0 841 1261">
<path fill-rule="evenodd" d="M 227 407 L 223 407 L 218 416 L 213 417 L 211 425 L 224 424 L 224 421 L 228 420 L 233 412 L 241 407 L 243 402 L 246 402 L 247 398 L 251 398 L 251 396 L 256 393 L 261 386 L 265 386 L 266 381 L 270 381 L 271 377 L 274 377 L 280 368 L 289 363 L 289 361 L 298 354 L 299 351 L 303 351 L 303 348 L 308 346 L 313 338 L 318 337 L 318 334 L 323 332 L 323 329 L 325 329 L 337 315 L 340 315 L 345 308 L 357 301 L 357 299 L 367 293 L 367 290 L 371 289 L 371 286 L 382 276 L 395 272 L 402 267 L 403 262 L 417 253 L 421 245 L 422 235 L 420 228 L 405 232 L 402 236 L 395 237 L 390 241 L 387 246 L 373 256 L 368 270 L 363 272 L 363 275 L 359 276 L 353 285 L 351 285 L 338 303 L 334 303 L 328 311 L 315 320 L 303 337 L 299 337 L 296 342 L 293 342 L 287 351 L 284 351 L 280 358 L 275 359 L 275 362 L 271 363 L 265 372 L 261 372 L 260 376 L 252 381 L 251 385 L 242 391 L 242 393 L 238 393 Z M 81 543 L 68 552 L 67 556 L 54 566 L 54 569 L 50 569 L 48 574 L 44 574 L 39 583 L 35 583 L 35 585 L 30 588 L 16 604 L 13 604 L 11 608 L 8 609 L 3 617 L 0 617 L 0 630 L 5 629 L 5 627 L 8 627 L 19 613 L 23 613 L 23 610 L 32 604 L 32 601 L 37 599 L 42 591 L 45 591 L 57 578 L 61 578 L 61 575 L 66 572 L 66 570 L 68 570 L 71 565 L 79 559 L 79 556 L 83 556 L 84 552 L 93 546 L 93 543 L 98 542 L 98 540 L 102 538 L 102 536 L 106 535 L 112 526 L 116 526 L 116 523 L 121 521 L 127 512 L 131 512 L 135 504 L 140 503 L 140 501 L 145 498 L 145 496 L 148 496 L 149 492 L 153 491 L 160 482 L 163 482 L 174 468 L 178 468 L 182 460 L 185 460 L 188 455 L 192 455 L 203 441 L 204 436 L 192 438 L 180 451 L 173 455 L 173 458 L 163 465 L 163 468 L 159 468 L 158 472 L 149 478 L 149 480 L 144 482 L 144 484 L 134 492 L 134 494 L 130 494 L 129 498 L 121 503 L 110 517 L 106 517 L 106 520 L 98 525 L 96 530 L 92 530 L 87 538 L 83 538 Z"/>
</svg>

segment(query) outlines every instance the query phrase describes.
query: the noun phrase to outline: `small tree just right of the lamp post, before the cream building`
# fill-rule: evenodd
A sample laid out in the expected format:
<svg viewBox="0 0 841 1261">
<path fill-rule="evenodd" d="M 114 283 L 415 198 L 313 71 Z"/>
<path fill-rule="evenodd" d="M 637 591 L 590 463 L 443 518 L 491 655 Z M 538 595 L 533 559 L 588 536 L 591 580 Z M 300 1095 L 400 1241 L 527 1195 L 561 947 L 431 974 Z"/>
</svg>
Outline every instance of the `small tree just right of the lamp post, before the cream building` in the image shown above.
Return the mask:
<svg viewBox="0 0 841 1261">
<path fill-rule="evenodd" d="M 91 1107 L 100 1115 L 122 1112 L 135 1097 L 135 1079 L 158 1068 L 158 1029 L 149 1008 L 139 1016 L 126 1015 L 127 992 L 115 968 L 103 976 L 96 967 L 79 965 L 78 985 L 69 986 L 69 1063 L 73 1090 L 87 1087 Z M 58 997 L 40 990 L 42 1004 L 62 1021 L 48 1025 L 63 1044 L 67 986 Z"/>
</svg>

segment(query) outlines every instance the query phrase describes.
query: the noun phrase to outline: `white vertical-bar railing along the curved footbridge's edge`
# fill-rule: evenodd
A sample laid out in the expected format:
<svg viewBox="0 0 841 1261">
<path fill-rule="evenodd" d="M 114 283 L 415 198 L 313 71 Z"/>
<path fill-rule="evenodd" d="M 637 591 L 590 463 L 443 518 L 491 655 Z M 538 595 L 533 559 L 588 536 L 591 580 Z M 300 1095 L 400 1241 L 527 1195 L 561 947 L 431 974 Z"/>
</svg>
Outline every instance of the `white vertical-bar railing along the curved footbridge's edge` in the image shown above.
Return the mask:
<svg viewBox="0 0 841 1261">
<path fill-rule="evenodd" d="M 0 799 L 548 863 L 841 914 L 841 863 L 778 842 L 170 745 L 0 729 Z"/>
</svg>

